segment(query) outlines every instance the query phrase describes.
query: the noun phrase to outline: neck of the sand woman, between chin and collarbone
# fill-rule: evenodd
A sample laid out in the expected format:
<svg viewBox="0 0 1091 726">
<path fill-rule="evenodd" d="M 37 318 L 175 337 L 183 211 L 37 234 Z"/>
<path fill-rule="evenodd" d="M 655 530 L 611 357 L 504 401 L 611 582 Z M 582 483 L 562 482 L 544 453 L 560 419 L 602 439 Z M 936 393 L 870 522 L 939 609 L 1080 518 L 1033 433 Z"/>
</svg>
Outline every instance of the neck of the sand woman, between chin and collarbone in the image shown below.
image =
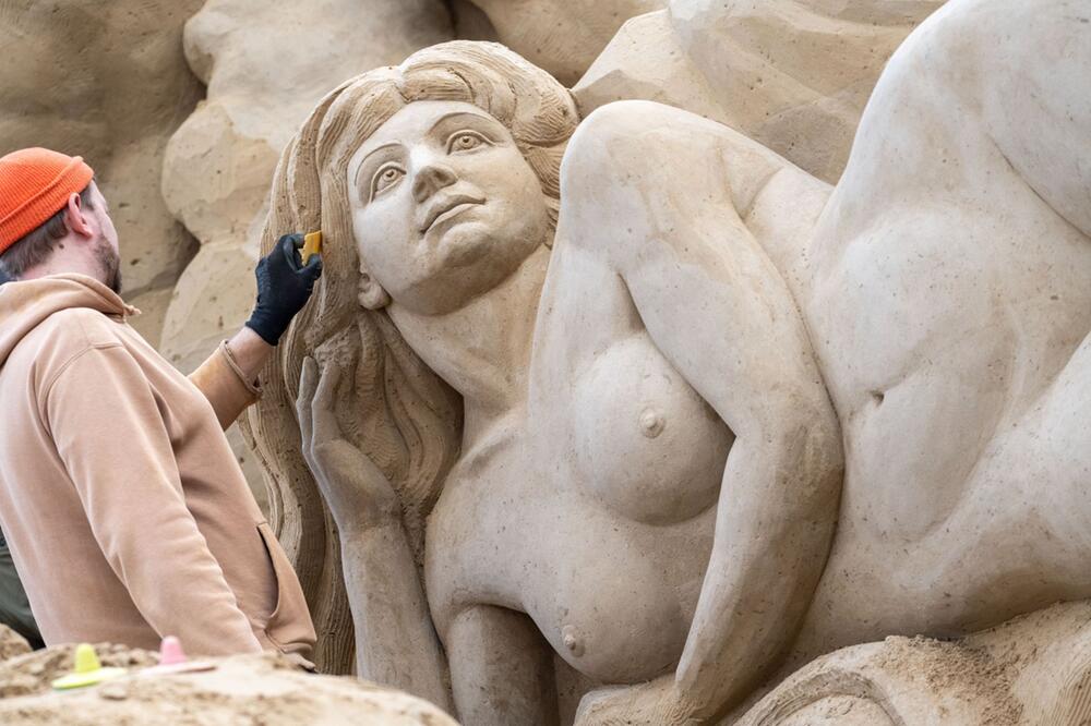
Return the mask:
<svg viewBox="0 0 1091 726">
<path fill-rule="evenodd" d="M 467 440 L 521 406 L 535 318 L 550 251 L 539 246 L 506 280 L 445 315 L 392 303 L 391 318 L 417 354 L 463 396 Z"/>
</svg>

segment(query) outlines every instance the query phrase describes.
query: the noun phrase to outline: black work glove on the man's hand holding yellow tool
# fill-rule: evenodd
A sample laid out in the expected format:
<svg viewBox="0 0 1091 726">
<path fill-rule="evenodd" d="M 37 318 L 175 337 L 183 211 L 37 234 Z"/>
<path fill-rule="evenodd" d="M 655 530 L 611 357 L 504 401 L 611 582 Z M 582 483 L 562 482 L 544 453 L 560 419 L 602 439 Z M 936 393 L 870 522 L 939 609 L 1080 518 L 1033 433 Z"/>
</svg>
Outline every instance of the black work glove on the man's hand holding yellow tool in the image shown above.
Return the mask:
<svg viewBox="0 0 1091 726">
<path fill-rule="evenodd" d="M 302 234 L 285 234 L 273 252 L 257 263 L 257 304 L 247 327 L 271 346 L 277 344 L 291 318 L 311 298 L 314 281 L 322 277 L 322 257 L 312 255 L 303 266 L 299 247 Z"/>
</svg>

